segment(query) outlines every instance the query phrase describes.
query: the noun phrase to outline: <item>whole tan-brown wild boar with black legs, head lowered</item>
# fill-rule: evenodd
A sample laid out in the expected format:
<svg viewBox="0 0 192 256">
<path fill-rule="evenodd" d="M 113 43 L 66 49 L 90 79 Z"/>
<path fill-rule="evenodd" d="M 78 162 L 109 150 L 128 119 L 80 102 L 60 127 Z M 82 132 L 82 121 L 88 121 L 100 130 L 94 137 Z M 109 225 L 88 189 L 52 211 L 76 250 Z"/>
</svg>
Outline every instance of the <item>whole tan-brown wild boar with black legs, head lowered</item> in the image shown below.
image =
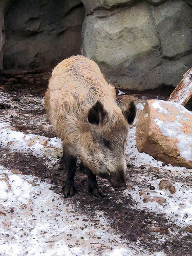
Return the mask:
<svg viewBox="0 0 192 256">
<path fill-rule="evenodd" d="M 108 178 L 116 190 L 126 188 L 126 136 L 136 115 L 135 103 L 116 103 L 115 88 L 97 64 L 83 56 L 61 61 L 52 72 L 45 106 L 55 133 L 62 140 L 67 169 L 65 197 L 75 193 L 76 161 L 86 167 L 89 190 L 104 196 L 96 175 Z"/>
</svg>

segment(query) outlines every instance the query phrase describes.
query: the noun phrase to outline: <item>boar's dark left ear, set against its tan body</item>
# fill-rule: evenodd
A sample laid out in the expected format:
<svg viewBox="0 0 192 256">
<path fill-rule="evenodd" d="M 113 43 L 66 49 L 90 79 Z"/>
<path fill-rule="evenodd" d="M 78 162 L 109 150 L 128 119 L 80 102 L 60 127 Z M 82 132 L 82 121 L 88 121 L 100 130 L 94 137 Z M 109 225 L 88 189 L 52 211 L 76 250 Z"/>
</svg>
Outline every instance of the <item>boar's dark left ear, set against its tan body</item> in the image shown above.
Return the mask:
<svg viewBox="0 0 192 256">
<path fill-rule="evenodd" d="M 108 113 L 104 110 L 103 105 L 100 101 L 97 101 L 95 105 L 89 110 L 88 121 L 91 124 L 103 124 L 106 120 Z"/>
</svg>

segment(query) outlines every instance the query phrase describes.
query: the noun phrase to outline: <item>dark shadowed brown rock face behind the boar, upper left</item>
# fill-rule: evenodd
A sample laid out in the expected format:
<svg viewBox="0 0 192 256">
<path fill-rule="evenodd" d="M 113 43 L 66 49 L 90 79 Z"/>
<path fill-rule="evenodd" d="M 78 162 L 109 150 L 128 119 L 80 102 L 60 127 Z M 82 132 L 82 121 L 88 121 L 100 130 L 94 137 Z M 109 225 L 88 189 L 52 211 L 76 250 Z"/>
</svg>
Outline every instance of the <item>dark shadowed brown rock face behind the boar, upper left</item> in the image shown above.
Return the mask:
<svg viewBox="0 0 192 256">
<path fill-rule="evenodd" d="M 80 0 L 16 1 L 5 14 L 4 70 L 51 70 L 79 54 L 83 19 Z"/>
</svg>

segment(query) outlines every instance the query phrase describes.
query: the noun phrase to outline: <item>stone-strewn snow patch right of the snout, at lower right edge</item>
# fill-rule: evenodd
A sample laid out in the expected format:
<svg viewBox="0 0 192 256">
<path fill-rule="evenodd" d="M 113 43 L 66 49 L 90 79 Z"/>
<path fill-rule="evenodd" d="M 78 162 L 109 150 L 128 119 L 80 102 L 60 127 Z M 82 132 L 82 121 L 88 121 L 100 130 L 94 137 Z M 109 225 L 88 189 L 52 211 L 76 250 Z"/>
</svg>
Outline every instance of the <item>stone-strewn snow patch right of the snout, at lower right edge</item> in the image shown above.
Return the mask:
<svg viewBox="0 0 192 256">
<path fill-rule="evenodd" d="M 143 177 L 144 178 L 144 177 Z M 145 176 L 146 184 L 151 183 L 152 176 Z M 175 194 L 170 194 L 169 190 L 159 189 L 160 179 L 153 180 L 153 186 L 155 190 L 147 191 L 147 195 L 150 197 L 163 197 L 166 199 L 166 203 L 159 204 L 154 202 L 143 202 L 143 197 L 139 195 L 141 190 L 138 186 L 134 186 L 134 190 L 129 191 L 132 198 L 139 203 L 141 209 L 147 208 L 150 211 L 161 212 L 174 221 L 179 226 L 192 225 L 192 188 L 189 186 L 183 186 L 179 182 L 175 182 L 173 186 L 176 188 Z M 124 192 L 127 193 L 126 190 Z"/>
</svg>

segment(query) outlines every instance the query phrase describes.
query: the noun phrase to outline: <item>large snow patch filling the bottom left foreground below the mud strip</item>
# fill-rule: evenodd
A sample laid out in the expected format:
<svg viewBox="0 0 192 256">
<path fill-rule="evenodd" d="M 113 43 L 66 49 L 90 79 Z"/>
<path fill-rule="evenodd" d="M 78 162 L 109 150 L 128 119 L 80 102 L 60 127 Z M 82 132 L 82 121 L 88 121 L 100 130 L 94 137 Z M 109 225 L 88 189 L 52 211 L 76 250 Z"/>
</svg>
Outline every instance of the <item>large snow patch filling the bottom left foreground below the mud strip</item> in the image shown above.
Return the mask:
<svg viewBox="0 0 192 256">
<path fill-rule="evenodd" d="M 33 176 L 13 175 L 0 166 L 2 255 L 155 255 L 113 233 L 103 212 L 95 214 L 100 227 L 86 221 L 73 205 Z M 118 246 L 117 246 L 118 245 Z M 104 248 L 104 249 L 103 249 Z M 164 255 L 163 252 L 161 255 Z"/>
</svg>

